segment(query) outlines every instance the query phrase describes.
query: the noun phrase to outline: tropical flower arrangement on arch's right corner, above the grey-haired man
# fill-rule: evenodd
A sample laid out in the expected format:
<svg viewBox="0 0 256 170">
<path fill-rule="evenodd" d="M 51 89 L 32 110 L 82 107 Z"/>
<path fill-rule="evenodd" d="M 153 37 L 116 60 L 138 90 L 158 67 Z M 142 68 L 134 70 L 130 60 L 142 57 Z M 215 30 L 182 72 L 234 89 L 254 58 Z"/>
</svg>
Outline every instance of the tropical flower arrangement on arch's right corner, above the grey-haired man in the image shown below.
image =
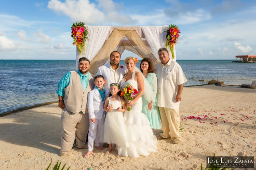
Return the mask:
<svg viewBox="0 0 256 170">
<path fill-rule="evenodd" d="M 176 45 L 179 37 L 179 28 L 176 25 L 169 25 L 169 28 L 164 31 L 167 32 L 166 34 L 166 41 L 165 41 L 165 47 L 170 48 L 170 51 L 172 53 L 172 58 L 174 59 L 174 44 Z"/>
</svg>

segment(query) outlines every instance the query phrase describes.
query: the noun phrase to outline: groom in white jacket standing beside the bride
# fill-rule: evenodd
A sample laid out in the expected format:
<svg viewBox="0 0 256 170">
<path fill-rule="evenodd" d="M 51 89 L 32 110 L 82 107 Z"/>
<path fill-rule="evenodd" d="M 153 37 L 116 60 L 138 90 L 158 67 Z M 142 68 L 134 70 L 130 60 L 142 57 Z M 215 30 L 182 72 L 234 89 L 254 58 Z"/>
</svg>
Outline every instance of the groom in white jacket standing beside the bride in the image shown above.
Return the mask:
<svg viewBox="0 0 256 170">
<path fill-rule="evenodd" d="M 110 93 L 110 84 L 111 83 L 118 83 L 121 84 L 124 74 L 127 72 L 125 66 L 119 64 L 121 60 L 121 55 L 118 51 L 113 51 L 110 54 L 110 62 L 99 67 L 98 73 L 96 75 L 102 75 L 106 83 L 104 84 L 105 95 L 109 97 Z"/>
</svg>

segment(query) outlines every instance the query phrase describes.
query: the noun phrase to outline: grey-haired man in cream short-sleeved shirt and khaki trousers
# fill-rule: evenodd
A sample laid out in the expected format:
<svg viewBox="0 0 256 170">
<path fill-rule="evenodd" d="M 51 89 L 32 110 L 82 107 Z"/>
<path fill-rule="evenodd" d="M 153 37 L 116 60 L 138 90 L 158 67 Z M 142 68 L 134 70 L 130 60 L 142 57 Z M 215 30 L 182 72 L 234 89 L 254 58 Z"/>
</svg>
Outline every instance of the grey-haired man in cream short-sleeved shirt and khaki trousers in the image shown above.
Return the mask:
<svg viewBox="0 0 256 170">
<path fill-rule="evenodd" d="M 161 115 L 162 131 L 157 139 L 171 138 L 174 144 L 181 141 L 179 134 L 179 101 L 183 83 L 187 79 L 180 65 L 169 58 L 166 48 L 159 48 L 158 57 L 161 62 L 155 66 L 158 89 L 157 106 Z"/>
</svg>

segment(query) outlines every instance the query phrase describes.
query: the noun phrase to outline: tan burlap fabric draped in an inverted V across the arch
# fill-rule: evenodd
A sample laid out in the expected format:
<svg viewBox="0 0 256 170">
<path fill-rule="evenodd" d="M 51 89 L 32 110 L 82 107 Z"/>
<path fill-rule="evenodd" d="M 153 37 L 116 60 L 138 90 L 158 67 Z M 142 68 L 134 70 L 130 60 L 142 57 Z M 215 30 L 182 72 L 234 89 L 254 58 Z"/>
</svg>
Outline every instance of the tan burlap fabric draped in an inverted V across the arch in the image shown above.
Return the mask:
<svg viewBox="0 0 256 170">
<path fill-rule="evenodd" d="M 123 30 L 115 28 L 108 40 L 103 45 L 102 49 L 91 61 L 89 70 L 90 73 L 97 73 L 98 68 L 102 66 L 102 63 L 105 63 L 108 60 L 110 53 L 116 49 L 123 36 L 127 37 L 134 49 L 136 49 L 137 53 L 140 54 L 139 56 L 142 58 L 151 58 L 154 65 L 158 63 L 158 60 L 152 55 L 135 30 Z"/>
</svg>

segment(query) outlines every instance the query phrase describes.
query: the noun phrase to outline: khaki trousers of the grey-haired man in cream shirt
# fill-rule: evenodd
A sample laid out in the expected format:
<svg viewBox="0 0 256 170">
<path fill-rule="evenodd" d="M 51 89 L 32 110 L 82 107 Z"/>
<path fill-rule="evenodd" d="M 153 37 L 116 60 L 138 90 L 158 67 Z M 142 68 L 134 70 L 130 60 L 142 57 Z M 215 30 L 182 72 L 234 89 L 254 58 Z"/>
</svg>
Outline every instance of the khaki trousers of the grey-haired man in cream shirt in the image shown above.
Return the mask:
<svg viewBox="0 0 256 170">
<path fill-rule="evenodd" d="M 181 140 L 179 134 L 179 109 L 169 109 L 159 107 L 161 115 L 162 131 L 160 135 L 163 138 L 171 138 L 171 140 L 178 138 Z"/>
</svg>

